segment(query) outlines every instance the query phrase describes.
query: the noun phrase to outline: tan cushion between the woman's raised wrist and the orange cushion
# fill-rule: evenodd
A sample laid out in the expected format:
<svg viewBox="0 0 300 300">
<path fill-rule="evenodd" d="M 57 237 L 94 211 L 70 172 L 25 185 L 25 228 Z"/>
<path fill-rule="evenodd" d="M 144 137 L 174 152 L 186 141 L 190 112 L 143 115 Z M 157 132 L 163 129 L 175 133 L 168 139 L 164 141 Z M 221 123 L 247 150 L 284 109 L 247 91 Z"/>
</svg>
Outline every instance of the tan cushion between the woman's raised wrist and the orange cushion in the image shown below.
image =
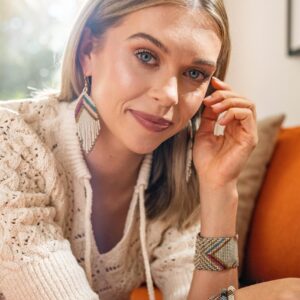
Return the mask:
<svg viewBox="0 0 300 300">
<path fill-rule="evenodd" d="M 280 126 L 284 115 L 267 117 L 258 122 L 259 141 L 251 153 L 246 166 L 242 170 L 238 180 L 239 206 L 237 214 L 237 232 L 239 234 L 239 273 L 243 269 L 243 258 L 251 221 L 259 189 L 267 171 L 267 165 L 273 154 Z"/>
</svg>

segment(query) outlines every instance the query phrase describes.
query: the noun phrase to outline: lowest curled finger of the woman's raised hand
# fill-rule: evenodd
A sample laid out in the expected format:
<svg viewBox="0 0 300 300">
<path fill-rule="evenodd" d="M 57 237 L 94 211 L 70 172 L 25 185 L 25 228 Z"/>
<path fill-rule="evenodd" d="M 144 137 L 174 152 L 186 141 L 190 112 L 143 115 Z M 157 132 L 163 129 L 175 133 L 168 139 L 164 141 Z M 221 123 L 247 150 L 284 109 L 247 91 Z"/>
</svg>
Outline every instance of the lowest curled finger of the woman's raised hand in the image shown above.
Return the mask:
<svg viewBox="0 0 300 300">
<path fill-rule="evenodd" d="M 253 112 L 248 108 L 230 108 L 224 116 L 218 120 L 218 123 L 222 126 L 226 126 L 233 121 L 239 121 L 248 133 L 256 131 L 256 122 Z"/>
</svg>

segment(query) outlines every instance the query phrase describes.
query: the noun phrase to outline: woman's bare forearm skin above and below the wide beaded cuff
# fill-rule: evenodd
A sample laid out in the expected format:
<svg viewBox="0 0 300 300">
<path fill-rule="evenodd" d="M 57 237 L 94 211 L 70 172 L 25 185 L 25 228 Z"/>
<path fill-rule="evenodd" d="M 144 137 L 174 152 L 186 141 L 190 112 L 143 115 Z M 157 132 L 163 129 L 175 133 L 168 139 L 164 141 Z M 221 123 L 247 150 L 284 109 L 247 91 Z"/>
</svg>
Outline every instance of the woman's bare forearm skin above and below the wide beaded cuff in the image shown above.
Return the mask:
<svg viewBox="0 0 300 300">
<path fill-rule="evenodd" d="M 200 189 L 201 235 L 225 237 L 236 234 L 238 194 L 236 184 L 224 187 L 204 185 Z M 195 270 L 188 300 L 207 300 L 230 285 L 238 287 L 237 269 L 220 272 Z"/>
</svg>

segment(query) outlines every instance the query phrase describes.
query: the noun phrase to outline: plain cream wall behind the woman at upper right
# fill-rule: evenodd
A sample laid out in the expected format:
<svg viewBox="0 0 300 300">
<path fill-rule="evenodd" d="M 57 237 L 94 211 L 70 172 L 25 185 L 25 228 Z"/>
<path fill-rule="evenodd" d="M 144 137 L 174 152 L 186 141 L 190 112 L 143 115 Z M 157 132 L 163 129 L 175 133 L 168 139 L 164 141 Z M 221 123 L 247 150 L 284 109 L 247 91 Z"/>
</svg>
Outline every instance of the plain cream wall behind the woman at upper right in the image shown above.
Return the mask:
<svg viewBox="0 0 300 300">
<path fill-rule="evenodd" d="M 233 43 L 226 81 L 256 103 L 258 119 L 284 112 L 285 126 L 300 125 L 300 56 L 287 55 L 287 1 L 224 2 Z"/>
</svg>

